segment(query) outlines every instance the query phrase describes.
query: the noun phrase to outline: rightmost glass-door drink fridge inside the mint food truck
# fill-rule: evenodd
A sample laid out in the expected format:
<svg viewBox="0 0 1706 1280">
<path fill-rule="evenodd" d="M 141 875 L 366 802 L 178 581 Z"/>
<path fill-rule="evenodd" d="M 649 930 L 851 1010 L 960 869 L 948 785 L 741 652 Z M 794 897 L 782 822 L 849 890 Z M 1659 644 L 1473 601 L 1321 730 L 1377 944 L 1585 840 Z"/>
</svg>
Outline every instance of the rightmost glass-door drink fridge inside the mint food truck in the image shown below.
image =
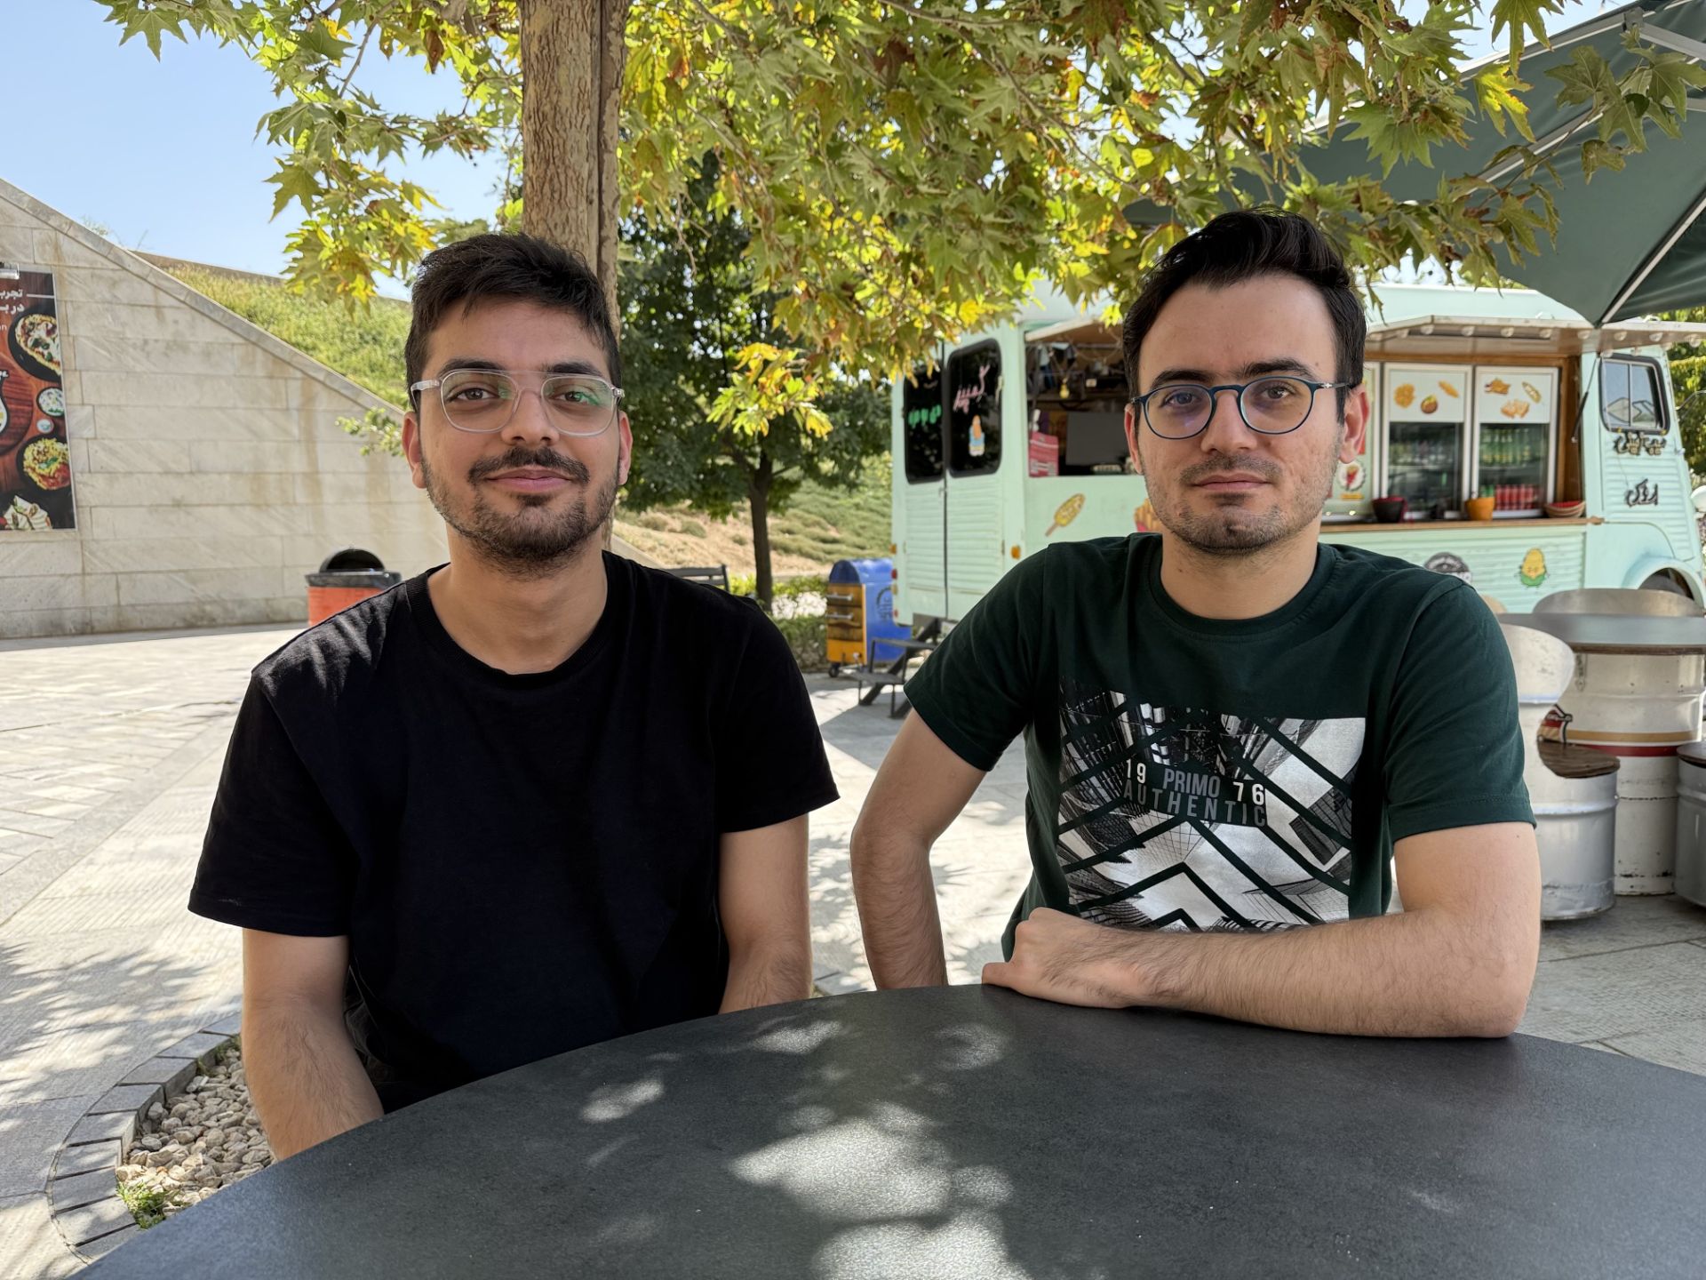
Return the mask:
<svg viewBox="0 0 1706 1280">
<path fill-rule="evenodd" d="M 1493 517 L 1539 515 L 1551 500 L 1558 374 L 1476 367 L 1471 493 L 1493 498 Z"/>
</svg>

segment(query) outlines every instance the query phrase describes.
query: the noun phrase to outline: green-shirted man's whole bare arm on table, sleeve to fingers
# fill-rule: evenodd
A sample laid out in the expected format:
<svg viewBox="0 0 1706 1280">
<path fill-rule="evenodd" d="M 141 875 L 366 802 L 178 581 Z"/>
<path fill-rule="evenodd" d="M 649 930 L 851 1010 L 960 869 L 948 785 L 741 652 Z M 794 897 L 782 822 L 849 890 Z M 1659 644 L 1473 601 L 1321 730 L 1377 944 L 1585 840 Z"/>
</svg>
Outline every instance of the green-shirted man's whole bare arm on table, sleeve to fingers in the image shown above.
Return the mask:
<svg viewBox="0 0 1706 1280">
<path fill-rule="evenodd" d="M 1404 910 L 1280 934 L 1109 928 L 1061 911 L 1018 925 L 984 981 L 1082 1005 L 1155 1005 L 1363 1036 L 1506 1036 L 1534 985 L 1534 829 L 1494 823 L 1397 841 Z"/>
</svg>

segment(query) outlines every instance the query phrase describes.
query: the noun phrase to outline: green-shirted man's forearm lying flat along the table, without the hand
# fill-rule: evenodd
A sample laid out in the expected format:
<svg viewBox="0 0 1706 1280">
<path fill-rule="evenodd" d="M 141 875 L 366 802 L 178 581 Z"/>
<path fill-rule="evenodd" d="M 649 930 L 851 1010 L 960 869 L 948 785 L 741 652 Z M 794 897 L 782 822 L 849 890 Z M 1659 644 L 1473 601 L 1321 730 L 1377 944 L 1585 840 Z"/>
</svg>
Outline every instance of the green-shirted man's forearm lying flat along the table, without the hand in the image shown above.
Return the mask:
<svg viewBox="0 0 1706 1280">
<path fill-rule="evenodd" d="M 1363 1036 L 1505 1036 L 1535 949 L 1447 911 L 1280 934 L 1114 934 L 1097 966 L 1129 1004 Z M 1512 937 L 1512 935 L 1505 935 Z M 1520 939 L 1520 935 L 1517 935 Z"/>
</svg>

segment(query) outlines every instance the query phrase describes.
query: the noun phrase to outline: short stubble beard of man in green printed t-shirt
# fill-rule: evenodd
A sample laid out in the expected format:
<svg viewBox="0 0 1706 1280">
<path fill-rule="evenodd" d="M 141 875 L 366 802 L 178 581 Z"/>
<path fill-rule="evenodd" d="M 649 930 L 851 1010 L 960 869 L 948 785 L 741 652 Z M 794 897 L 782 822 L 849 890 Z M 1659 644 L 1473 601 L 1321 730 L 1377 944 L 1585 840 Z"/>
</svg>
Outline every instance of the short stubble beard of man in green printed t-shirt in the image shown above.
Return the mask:
<svg viewBox="0 0 1706 1280">
<path fill-rule="evenodd" d="M 1332 495 L 1332 476 L 1339 466 L 1339 439 L 1336 433 L 1331 449 L 1326 449 L 1319 457 L 1303 461 L 1290 500 L 1285 498 L 1281 488 L 1285 469 L 1266 457 L 1218 456 L 1189 466 L 1177 476 L 1167 476 L 1160 483 L 1145 471 L 1155 517 L 1181 543 L 1206 555 L 1244 556 L 1283 543 L 1309 529 Z M 1223 498 L 1203 495 L 1192 503 L 1191 488 L 1194 485 L 1227 471 L 1249 471 L 1261 476 L 1273 486 L 1268 493 L 1278 500 L 1269 507 L 1257 507 L 1250 502 L 1250 495 L 1227 495 Z M 1201 502 L 1208 503 L 1206 510 Z"/>
</svg>

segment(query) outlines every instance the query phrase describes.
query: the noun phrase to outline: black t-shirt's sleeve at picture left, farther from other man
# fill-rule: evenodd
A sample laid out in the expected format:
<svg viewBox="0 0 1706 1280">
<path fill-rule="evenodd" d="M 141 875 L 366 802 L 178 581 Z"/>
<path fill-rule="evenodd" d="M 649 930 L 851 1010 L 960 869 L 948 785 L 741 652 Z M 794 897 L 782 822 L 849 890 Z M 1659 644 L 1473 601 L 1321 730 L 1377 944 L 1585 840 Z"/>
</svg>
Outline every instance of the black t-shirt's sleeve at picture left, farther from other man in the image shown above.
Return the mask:
<svg viewBox="0 0 1706 1280">
<path fill-rule="evenodd" d="M 258 679 L 237 712 L 189 910 L 300 937 L 350 930 L 355 855 Z"/>
</svg>

